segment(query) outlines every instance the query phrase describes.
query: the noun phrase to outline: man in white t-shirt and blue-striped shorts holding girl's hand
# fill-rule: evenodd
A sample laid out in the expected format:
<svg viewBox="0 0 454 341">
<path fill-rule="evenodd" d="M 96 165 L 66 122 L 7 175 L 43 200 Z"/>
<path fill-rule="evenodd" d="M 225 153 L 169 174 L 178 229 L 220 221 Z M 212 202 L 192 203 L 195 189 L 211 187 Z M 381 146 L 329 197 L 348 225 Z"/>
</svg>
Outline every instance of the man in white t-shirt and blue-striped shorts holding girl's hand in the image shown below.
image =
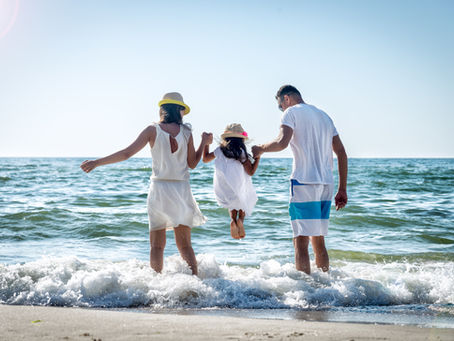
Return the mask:
<svg viewBox="0 0 454 341">
<path fill-rule="evenodd" d="M 276 140 L 253 146 L 254 157 L 279 152 L 288 144 L 293 152 L 291 175 L 290 219 L 293 228 L 295 266 L 311 273 L 309 240 L 315 263 L 323 271 L 329 269 L 324 236 L 334 189 L 333 151 L 337 155 L 339 188 L 336 209 L 347 204 L 347 154 L 331 118 L 313 105 L 304 103 L 300 92 L 291 85 L 282 86 L 276 94 L 279 109 L 284 112 Z"/>
</svg>

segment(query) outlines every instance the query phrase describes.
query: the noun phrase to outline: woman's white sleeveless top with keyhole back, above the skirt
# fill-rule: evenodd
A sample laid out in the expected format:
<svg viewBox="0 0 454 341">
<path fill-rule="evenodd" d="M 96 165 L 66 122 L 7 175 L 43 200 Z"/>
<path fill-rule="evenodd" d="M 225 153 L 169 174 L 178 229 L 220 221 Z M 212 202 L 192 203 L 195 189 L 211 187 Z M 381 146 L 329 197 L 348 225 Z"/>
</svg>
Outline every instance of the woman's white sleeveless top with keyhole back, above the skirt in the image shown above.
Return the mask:
<svg viewBox="0 0 454 341">
<path fill-rule="evenodd" d="M 158 123 L 156 127 L 156 140 L 151 148 L 151 160 L 153 173 L 152 180 L 189 180 L 188 170 L 188 141 L 191 130 L 180 125 L 180 132 L 175 136 L 178 149 L 172 153 L 170 149 L 170 134 L 161 129 Z"/>
</svg>

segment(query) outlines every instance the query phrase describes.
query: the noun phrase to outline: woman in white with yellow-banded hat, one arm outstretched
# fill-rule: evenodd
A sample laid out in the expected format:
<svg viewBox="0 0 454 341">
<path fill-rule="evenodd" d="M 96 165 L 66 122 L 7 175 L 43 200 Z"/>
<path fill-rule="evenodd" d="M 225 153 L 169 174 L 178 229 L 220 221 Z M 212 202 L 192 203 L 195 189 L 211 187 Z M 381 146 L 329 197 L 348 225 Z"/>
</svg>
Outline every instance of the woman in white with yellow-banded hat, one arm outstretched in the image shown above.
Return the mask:
<svg viewBox="0 0 454 341">
<path fill-rule="evenodd" d="M 183 124 L 183 116 L 190 111 L 183 97 L 177 92 L 165 94 L 159 106 L 159 123 L 145 128 L 129 147 L 101 159 L 84 161 L 81 168 L 89 173 L 96 167 L 124 161 L 148 144 L 153 169 L 147 199 L 150 266 L 161 272 L 166 229 L 174 229 L 181 257 L 197 275 L 191 227 L 204 224 L 206 218 L 192 196 L 188 167 L 194 169 L 197 166 L 210 134 L 202 134 L 200 146 L 195 151 L 191 128 Z"/>
</svg>

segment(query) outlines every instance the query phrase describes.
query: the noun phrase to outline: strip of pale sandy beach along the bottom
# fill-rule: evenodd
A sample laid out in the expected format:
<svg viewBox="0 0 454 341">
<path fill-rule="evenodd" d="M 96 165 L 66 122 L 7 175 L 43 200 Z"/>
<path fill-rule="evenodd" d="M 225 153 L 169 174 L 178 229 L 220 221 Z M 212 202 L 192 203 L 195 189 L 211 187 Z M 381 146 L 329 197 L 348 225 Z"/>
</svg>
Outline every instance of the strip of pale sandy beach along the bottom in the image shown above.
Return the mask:
<svg viewBox="0 0 454 341">
<path fill-rule="evenodd" d="M 454 329 L 0 305 L 0 340 L 454 340 Z"/>
</svg>

